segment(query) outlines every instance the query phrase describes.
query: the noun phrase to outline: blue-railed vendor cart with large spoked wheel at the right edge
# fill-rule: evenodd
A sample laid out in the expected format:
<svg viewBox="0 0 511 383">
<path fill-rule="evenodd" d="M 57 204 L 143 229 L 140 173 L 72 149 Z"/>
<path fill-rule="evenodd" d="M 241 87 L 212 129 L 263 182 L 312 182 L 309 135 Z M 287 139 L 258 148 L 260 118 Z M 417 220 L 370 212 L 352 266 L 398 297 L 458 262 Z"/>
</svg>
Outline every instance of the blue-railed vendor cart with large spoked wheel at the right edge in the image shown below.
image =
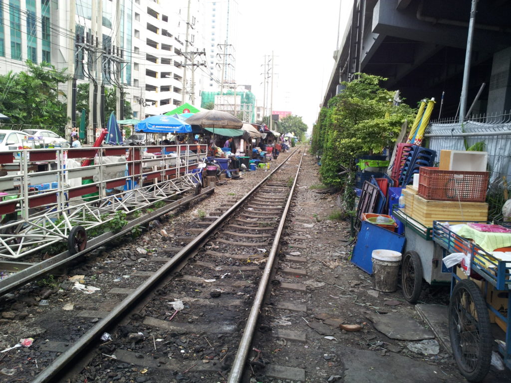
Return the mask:
<svg viewBox="0 0 511 383">
<path fill-rule="evenodd" d="M 467 266 L 453 267 L 449 336 L 461 374 L 471 382 L 478 382 L 490 369 L 494 347 L 504 357 L 505 365 L 511 368 L 511 321 L 507 317 L 511 303 L 511 257 L 497 259 L 482 249 L 485 246 L 481 241 L 476 241 L 479 244 L 469 241 L 466 234 L 461 236 L 459 232 L 458 235 L 451 228 L 435 221 L 433 241 L 449 253 L 470 255 L 467 264 L 471 270 L 467 276 L 462 270 L 468 269 Z M 492 322 L 496 325 L 492 326 Z"/>
</svg>

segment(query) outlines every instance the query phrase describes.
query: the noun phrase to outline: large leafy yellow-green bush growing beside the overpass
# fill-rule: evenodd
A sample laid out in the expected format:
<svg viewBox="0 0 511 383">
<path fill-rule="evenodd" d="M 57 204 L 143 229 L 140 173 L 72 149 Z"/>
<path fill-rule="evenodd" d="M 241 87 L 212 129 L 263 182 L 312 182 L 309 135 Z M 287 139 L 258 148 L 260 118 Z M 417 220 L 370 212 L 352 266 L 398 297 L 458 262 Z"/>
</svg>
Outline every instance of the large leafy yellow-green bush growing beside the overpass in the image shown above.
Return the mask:
<svg viewBox="0 0 511 383">
<path fill-rule="evenodd" d="M 326 185 L 344 186 L 341 167 L 354 171 L 355 158 L 378 154 L 396 140 L 405 119 L 414 111 L 406 104 L 394 106 L 388 100 L 393 91 L 380 87 L 386 79 L 359 74 L 322 108 L 312 135 L 312 153 L 321 157 L 320 176 Z"/>
</svg>

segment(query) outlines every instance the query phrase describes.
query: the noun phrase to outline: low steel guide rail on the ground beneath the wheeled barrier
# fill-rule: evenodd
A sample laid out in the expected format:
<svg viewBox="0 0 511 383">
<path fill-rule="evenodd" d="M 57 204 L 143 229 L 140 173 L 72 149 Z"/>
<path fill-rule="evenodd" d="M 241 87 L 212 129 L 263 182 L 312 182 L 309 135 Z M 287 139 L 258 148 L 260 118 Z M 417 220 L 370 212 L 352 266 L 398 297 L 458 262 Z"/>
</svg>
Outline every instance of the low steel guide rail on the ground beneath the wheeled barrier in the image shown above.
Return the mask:
<svg viewBox="0 0 511 383">
<path fill-rule="evenodd" d="M 130 221 L 126 226 L 124 226 L 121 231 L 117 233 L 107 232 L 103 233 L 101 235 L 98 235 L 95 238 L 92 238 L 92 240 L 87 241 L 87 248 L 85 248 L 83 251 L 80 251 L 76 254 L 69 255 L 68 251 L 64 251 L 60 254 L 57 254 L 51 258 L 48 258 L 46 260 L 43 260 L 41 262 L 38 262 L 37 264 L 34 264 L 33 266 L 27 267 L 24 270 L 18 271 L 15 274 L 10 275 L 9 277 L 0 280 L 0 296 L 16 289 L 17 287 L 27 284 L 28 282 L 33 281 L 34 279 L 39 278 L 40 276 L 49 273 L 52 270 L 55 270 L 59 267 L 62 267 L 66 265 L 68 262 L 71 262 L 73 259 L 76 259 L 82 255 L 85 255 L 86 253 L 90 252 L 91 250 L 94 250 L 108 242 L 110 242 L 113 238 L 117 238 L 121 235 L 127 234 L 131 228 L 137 226 L 137 225 L 143 225 L 151 220 L 154 220 L 156 217 L 162 216 L 163 214 L 175 209 L 176 207 L 179 207 L 181 205 L 184 205 L 186 203 L 189 203 L 193 201 L 195 198 L 198 198 L 200 196 L 212 193 L 214 187 L 207 187 L 202 189 L 202 192 L 196 196 L 189 196 L 181 198 L 178 201 L 175 201 L 171 204 L 168 204 L 166 206 L 160 207 L 159 209 L 154 210 L 150 214 L 145 214 L 142 217 L 136 218 L 132 221 Z M 14 262 L 10 261 L 8 262 L 9 265 L 14 264 Z M 24 264 L 24 262 L 20 262 L 21 265 L 27 265 Z M 2 261 L 0 261 L 0 265 L 2 265 Z"/>
</svg>

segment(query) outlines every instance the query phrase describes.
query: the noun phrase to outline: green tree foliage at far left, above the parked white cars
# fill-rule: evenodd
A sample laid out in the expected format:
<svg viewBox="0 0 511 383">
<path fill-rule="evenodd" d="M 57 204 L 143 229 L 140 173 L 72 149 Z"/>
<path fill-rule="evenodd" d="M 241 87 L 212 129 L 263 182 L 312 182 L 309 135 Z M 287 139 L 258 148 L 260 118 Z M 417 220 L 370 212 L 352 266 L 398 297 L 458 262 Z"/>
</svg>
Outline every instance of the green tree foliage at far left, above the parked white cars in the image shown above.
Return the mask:
<svg viewBox="0 0 511 383">
<path fill-rule="evenodd" d="M 12 124 L 38 125 L 64 133 L 66 125 L 66 95 L 59 90 L 69 75 L 66 69 L 56 69 L 47 62 L 34 64 L 27 61 L 28 71 L 17 74 L 10 71 L 0 76 L 0 88 L 4 89 L 0 110 L 7 114 Z"/>
</svg>

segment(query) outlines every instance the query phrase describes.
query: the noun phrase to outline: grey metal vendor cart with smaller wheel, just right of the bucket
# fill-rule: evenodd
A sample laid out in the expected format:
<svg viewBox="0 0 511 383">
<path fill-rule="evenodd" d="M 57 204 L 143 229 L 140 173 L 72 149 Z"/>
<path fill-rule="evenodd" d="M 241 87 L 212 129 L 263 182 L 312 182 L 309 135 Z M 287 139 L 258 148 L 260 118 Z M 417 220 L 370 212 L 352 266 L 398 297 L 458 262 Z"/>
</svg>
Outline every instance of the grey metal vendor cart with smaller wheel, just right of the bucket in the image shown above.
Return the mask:
<svg viewBox="0 0 511 383">
<path fill-rule="evenodd" d="M 431 285 L 450 283 L 451 269 L 442 262 L 447 253 L 433 242 L 431 227 L 415 221 L 401 209 L 394 209 L 392 214 L 405 227 L 406 244 L 401 266 L 403 296 L 408 302 L 416 303 L 423 281 Z"/>
</svg>

